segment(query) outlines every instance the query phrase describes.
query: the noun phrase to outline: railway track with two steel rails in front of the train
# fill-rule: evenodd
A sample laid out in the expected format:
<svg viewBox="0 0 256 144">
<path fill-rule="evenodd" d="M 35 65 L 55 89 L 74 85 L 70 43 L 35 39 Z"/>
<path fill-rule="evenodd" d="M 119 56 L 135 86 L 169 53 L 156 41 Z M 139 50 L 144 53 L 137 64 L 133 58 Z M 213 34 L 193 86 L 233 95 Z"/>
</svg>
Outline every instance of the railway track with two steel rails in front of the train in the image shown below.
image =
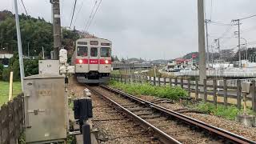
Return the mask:
<svg viewBox="0 0 256 144">
<path fill-rule="evenodd" d="M 86 86 L 163 143 L 255 143 L 108 86 Z"/>
</svg>

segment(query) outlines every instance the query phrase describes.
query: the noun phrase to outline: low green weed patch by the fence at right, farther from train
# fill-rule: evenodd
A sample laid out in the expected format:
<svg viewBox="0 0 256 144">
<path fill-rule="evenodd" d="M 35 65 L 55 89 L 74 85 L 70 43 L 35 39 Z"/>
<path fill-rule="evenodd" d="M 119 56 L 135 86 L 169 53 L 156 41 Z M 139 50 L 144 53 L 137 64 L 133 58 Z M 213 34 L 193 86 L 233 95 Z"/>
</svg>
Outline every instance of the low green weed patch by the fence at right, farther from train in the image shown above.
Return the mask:
<svg viewBox="0 0 256 144">
<path fill-rule="evenodd" d="M 239 110 L 236 106 L 223 106 L 217 105 L 215 108 L 213 103 L 199 102 L 198 104 L 191 106 L 196 110 L 202 110 L 208 114 L 213 114 L 222 118 L 234 120 L 238 114 L 242 114 L 243 110 Z M 252 110 L 247 109 L 247 114 L 255 114 Z"/>
</svg>

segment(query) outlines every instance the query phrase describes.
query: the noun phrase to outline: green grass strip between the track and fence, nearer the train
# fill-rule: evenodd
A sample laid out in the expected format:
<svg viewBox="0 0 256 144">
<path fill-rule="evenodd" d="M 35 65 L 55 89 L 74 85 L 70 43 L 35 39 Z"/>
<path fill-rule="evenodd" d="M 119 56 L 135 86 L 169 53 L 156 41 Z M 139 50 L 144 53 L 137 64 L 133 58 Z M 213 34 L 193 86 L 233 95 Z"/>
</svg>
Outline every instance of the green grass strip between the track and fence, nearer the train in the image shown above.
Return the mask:
<svg viewBox="0 0 256 144">
<path fill-rule="evenodd" d="M 125 84 L 122 82 L 110 81 L 110 86 L 124 90 L 128 94 L 134 95 L 150 95 L 158 98 L 169 98 L 172 100 L 178 100 L 179 98 L 187 97 L 186 90 L 182 90 L 180 87 L 170 86 L 151 86 L 150 84 Z"/>
</svg>

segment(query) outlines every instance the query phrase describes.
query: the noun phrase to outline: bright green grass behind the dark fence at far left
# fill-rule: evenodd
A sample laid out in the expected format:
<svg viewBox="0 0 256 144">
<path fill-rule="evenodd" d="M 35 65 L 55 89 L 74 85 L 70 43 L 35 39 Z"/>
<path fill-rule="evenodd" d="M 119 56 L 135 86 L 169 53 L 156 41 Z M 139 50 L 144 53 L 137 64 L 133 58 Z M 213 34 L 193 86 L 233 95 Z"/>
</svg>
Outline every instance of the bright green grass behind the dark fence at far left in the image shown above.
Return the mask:
<svg viewBox="0 0 256 144">
<path fill-rule="evenodd" d="M 13 98 L 22 92 L 21 82 L 14 82 L 13 85 Z M 0 106 L 8 102 L 9 97 L 9 82 L 0 81 Z"/>
</svg>

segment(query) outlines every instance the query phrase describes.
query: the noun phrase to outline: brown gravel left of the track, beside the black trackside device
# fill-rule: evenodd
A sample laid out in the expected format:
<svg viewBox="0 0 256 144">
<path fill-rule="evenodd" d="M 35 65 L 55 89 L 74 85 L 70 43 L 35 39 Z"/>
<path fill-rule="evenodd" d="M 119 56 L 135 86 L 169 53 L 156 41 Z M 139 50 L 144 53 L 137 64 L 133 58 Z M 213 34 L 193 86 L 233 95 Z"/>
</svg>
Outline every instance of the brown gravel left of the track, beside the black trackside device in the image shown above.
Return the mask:
<svg viewBox="0 0 256 144">
<path fill-rule="evenodd" d="M 72 98 L 82 97 L 85 86 L 76 82 L 75 78 L 70 78 L 68 84 L 68 95 Z M 154 141 L 148 132 L 142 130 L 136 123 L 113 110 L 101 98 L 92 94 L 93 128 L 98 129 L 99 143 L 106 144 L 141 144 L 141 143 L 160 143 Z"/>
</svg>

